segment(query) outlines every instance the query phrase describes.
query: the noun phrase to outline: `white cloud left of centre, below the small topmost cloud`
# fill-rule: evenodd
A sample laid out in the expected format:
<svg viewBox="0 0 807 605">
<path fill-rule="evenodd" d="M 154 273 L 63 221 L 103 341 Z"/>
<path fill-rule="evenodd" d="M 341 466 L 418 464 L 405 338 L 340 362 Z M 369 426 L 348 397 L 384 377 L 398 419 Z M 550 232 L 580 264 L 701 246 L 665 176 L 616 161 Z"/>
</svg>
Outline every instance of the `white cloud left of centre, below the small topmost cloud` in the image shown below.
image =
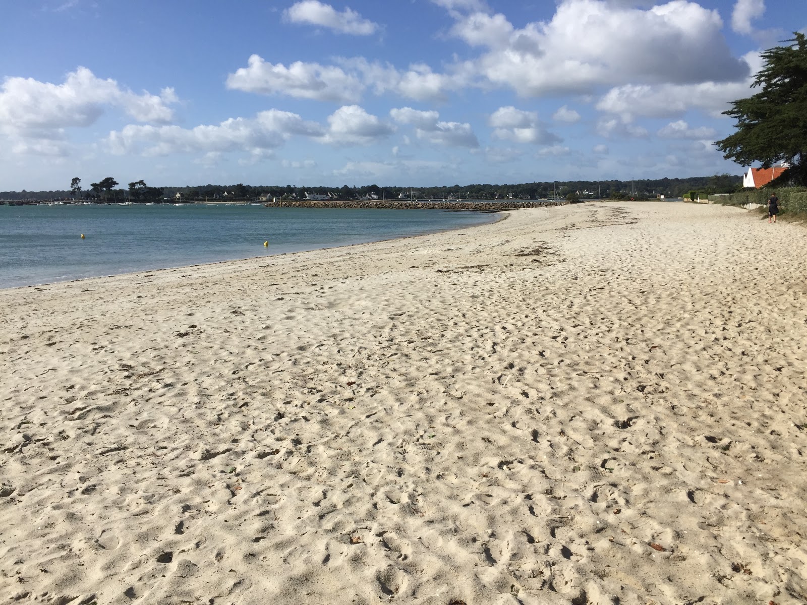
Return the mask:
<svg viewBox="0 0 807 605">
<path fill-rule="evenodd" d="M 260 94 L 287 94 L 317 101 L 357 102 L 364 85 L 353 74 L 332 65 L 295 61 L 288 67 L 269 63 L 261 56 L 249 57 L 242 67 L 227 77 L 227 87 Z"/>
</svg>

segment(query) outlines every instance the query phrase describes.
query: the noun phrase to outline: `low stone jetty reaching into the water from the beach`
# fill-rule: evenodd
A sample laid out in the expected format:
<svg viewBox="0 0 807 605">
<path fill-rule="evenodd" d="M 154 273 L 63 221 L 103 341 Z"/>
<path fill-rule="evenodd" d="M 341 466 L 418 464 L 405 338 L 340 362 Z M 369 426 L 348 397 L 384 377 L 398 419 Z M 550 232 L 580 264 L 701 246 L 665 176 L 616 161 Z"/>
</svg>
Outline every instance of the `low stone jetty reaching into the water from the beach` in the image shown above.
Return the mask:
<svg viewBox="0 0 807 605">
<path fill-rule="evenodd" d="M 449 202 L 427 200 L 308 200 L 286 199 L 277 202 L 266 202 L 267 208 L 362 208 L 387 210 L 453 210 L 475 212 L 500 212 L 516 210 L 516 208 L 546 208 L 548 206 L 566 206 L 563 200 L 546 199 L 508 199 L 492 202 Z"/>
</svg>

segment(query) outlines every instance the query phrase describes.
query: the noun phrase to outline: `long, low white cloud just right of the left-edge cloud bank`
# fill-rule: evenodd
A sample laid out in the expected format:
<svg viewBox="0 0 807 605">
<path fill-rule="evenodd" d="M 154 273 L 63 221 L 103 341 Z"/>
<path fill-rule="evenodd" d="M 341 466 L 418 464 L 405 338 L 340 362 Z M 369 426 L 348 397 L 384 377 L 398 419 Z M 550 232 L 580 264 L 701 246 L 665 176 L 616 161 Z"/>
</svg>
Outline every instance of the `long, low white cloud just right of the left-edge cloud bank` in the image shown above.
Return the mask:
<svg viewBox="0 0 807 605">
<path fill-rule="evenodd" d="M 107 138 L 111 152 L 117 155 L 140 151 L 145 156 L 171 153 L 221 153 L 245 151 L 258 153 L 280 147 L 291 136 L 324 136 L 318 123 L 306 122 L 287 111 L 261 111 L 253 119 L 231 118 L 218 125 L 194 128 L 178 126 L 136 126 L 129 124 L 112 131 Z"/>
</svg>

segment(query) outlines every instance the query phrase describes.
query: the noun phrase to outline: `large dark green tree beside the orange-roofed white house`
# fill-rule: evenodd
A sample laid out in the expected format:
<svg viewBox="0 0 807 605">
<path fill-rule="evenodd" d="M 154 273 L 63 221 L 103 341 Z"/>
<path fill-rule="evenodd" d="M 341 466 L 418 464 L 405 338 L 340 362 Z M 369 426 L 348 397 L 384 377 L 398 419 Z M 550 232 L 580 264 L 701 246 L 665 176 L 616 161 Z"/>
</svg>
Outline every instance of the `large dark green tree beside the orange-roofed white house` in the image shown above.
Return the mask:
<svg viewBox="0 0 807 605">
<path fill-rule="evenodd" d="M 793 35 L 787 46 L 763 52 L 763 69 L 751 85 L 762 90 L 723 112 L 737 120 L 737 131 L 715 145 L 744 166 L 787 161 L 791 168 L 783 180 L 807 185 L 807 37 Z"/>
</svg>

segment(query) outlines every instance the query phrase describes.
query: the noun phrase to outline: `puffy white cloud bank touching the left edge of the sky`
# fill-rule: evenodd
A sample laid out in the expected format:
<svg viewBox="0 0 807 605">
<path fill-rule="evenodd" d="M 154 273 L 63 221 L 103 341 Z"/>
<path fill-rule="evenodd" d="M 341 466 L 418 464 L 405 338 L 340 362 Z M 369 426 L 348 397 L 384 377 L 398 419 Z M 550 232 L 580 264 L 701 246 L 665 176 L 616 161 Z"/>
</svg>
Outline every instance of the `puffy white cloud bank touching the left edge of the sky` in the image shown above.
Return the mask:
<svg viewBox="0 0 807 605">
<path fill-rule="evenodd" d="M 65 155 L 65 129 L 91 126 L 108 107 L 138 122 L 168 123 L 174 118 L 170 105 L 177 101 L 174 89 L 136 94 L 84 67 L 68 73 L 63 84 L 6 77 L 0 89 L 0 133 L 17 153 Z"/>
</svg>

